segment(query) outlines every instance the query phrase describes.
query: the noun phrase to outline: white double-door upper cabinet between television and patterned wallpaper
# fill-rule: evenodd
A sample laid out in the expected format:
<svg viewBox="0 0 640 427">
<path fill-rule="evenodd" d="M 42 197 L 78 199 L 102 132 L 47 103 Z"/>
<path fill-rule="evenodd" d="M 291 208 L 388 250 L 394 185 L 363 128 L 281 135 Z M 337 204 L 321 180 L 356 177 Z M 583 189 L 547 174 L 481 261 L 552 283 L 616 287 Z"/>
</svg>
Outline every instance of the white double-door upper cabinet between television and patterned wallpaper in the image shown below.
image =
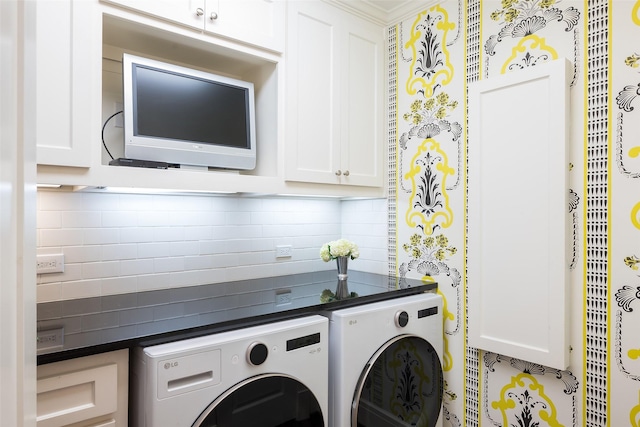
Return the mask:
<svg viewBox="0 0 640 427">
<path fill-rule="evenodd" d="M 383 186 L 383 28 L 321 1 L 288 6 L 285 178 Z"/>
</svg>

